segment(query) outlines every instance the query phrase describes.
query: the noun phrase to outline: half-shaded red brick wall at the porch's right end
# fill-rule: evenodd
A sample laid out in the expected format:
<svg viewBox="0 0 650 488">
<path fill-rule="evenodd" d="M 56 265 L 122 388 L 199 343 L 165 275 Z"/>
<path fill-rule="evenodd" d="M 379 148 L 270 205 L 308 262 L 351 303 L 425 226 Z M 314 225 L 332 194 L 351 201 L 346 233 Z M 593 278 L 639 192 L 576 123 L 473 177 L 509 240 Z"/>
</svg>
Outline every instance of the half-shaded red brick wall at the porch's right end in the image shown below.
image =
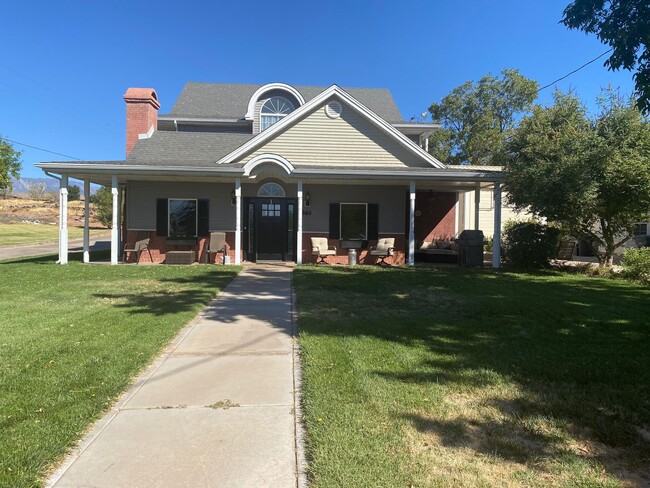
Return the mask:
<svg viewBox="0 0 650 488">
<path fill-rule="evenodd" d="M 433 241 L 456 233 L 456 193 L 417 192 L 415 240 Z M 420 215 L 418 216 L 418 211 Z M 417 244 L 417 242 L 416 242 Z"/>
</svg>

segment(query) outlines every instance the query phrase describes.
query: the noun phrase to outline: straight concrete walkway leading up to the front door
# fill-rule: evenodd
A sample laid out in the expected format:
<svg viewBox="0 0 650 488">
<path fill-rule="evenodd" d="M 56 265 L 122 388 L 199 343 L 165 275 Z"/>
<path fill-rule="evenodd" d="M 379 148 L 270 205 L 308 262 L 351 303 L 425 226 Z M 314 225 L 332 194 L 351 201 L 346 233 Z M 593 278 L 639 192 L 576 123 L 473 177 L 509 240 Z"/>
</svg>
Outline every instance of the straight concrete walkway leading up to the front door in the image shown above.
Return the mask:
<svg viewBox="0 0 650 488">
<path fill-rule="evenodd" d="M 291 269 L 248 267 L 47 486 L 304 486 L 294 332 Z"/>
</svg>

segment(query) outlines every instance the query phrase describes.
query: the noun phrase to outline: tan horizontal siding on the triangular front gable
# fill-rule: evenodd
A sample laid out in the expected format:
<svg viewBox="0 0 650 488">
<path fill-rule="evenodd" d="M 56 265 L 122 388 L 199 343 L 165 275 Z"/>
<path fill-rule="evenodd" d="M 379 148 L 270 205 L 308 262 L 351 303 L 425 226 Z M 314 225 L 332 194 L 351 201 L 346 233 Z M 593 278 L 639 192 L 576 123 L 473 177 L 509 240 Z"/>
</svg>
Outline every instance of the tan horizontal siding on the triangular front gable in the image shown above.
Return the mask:
<svg viewBox="0 0 650 488">
<path fill-rule="evenodd" d="M 241 161 L 248 162 L 264 153 L 280 155 L 296 167 L 315 165 L 385 165 L 393 167 L 431 167 L 404 147 L 402 141 L 340 102 L 343 113 L 331 119 L 324 105 L 276 136 Z M 406 142 L 408 144 L 408 142 Z"/>
</svg>

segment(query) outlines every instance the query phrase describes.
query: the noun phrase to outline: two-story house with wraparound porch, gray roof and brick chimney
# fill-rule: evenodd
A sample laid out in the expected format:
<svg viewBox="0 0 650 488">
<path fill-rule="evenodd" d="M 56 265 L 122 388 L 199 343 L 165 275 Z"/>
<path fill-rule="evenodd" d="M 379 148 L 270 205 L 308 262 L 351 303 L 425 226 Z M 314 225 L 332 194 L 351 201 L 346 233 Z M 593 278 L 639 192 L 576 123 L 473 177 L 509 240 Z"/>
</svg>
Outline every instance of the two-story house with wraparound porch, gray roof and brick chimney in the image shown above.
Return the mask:
<svg viewBox="0 0 650 488">
<path fill-rule="evenodd" d="M 233 263 L 315 262 L 311 237 L 337 248 L 330 262 L 354 248 L 372 263 L 368 246 L 394 237 L 392 262 L 412 265 L 420 242 L 478 228 L 488 192 L 499 265 L 500 169 L 436 160 L 427 146 L 439 126 L 405 122 L 388 90 L 187 83 L 165 115 L 153 89 L 129 88 L 124 100 L 124 160 L 37 165 L 61 180 L 61 263 L 76 178 L 86 192 L 91 182 L 112 190 L 114 264 L 137 236 L 163 262 L 179 249 L 201 260 L 209 233 L 225 232 Z"/>
</svg>

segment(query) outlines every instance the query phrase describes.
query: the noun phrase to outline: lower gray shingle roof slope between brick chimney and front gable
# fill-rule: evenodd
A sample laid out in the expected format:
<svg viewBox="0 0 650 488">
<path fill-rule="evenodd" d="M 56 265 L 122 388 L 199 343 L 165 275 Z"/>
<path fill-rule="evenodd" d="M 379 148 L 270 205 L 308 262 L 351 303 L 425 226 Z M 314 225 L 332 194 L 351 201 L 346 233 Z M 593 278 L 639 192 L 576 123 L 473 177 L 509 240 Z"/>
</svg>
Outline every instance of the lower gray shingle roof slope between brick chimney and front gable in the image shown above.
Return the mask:
<svg viewBox="0 0 650 488">
<path fill-rule="evenodd" d="M 214 164 L 253 138 L 253 134 L 155 131 L 140 139 L 127 158 L 132 164 Z"/>
</svg>

